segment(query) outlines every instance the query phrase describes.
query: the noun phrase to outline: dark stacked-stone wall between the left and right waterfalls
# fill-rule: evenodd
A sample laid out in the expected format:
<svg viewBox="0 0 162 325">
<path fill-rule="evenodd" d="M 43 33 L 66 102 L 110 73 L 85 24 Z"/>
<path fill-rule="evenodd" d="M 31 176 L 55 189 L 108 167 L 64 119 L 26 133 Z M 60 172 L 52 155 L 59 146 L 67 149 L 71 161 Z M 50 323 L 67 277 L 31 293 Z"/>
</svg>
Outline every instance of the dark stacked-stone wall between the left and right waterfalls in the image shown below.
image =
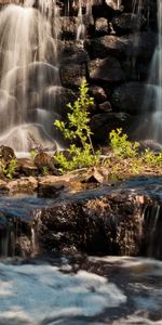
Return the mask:
<svg viewBox="0 0 162 325">
<path fill-rule="evenodd" d="M 123 0 L 117 6 L 118 1 L 98 0 L 93 1 L 92 14 L 85 12 L 87 2 L 82 1 L 84 35 L 77 41 L 79 3 L 71 1 L 68 11 L 68 1 L 59 1 L 60 80 L 73 91 L 86 77 L 95 98 L 92 131 L 96 142 L 104 142 L 111 129 L 120 126 L 126 132 L 134 131 L 144 117 L 145 90 L 157 43 L 157 1 Z M 152 94 L 150 112 L 153 102 Z"/>
</svg>

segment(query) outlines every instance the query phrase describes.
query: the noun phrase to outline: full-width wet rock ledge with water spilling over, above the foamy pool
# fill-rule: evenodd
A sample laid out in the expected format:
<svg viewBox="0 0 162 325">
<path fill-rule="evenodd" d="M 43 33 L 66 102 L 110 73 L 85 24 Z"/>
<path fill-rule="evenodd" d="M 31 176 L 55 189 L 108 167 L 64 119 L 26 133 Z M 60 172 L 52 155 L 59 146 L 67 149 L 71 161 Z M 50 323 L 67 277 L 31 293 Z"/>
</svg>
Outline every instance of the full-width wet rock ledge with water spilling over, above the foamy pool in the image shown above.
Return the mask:
<svg viewBox="0 0 162 325">
<path fill-rule="evenodd" d="M 55 194 L 49 187 L 46 198 L 3 197 L 0 256 L 81 251 L 162 259 L 160 182 L 141 178 L 79 193 L 53 184 Z"/>
</svg>

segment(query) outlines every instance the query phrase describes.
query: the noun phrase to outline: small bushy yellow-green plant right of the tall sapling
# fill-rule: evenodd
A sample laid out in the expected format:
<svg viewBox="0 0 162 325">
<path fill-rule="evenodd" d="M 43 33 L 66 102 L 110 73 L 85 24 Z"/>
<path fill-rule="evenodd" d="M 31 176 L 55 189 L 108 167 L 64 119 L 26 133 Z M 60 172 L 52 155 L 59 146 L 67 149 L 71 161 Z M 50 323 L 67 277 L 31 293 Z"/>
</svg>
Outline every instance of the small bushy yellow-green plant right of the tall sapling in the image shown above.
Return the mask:
<svg viewBox="0 0 162 325">
<path fill-rule="evenodd" d="M 122 133 L 122 128 L 112 130 L 109 134 L 110 146 L 114 155 L 122 158 L 134 158 L 138 154 L 138 142 L 131 142 L 127 140 L 127 134 Z"/>
</svg>

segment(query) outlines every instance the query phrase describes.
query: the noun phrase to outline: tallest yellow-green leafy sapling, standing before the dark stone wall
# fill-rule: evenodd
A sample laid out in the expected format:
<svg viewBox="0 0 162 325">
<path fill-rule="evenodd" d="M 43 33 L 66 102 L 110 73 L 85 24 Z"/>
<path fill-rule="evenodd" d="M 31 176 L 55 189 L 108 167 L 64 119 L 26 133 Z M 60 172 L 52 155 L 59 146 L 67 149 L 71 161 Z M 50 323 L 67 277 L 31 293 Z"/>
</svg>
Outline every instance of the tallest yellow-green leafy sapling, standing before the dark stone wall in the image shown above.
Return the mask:
<svg viewBox="0 0 162 325">
<path fill-rule="evenodd" d="M 94 100 L 89 95 L 86 80 L 82 80 L 79 89 L 79 98 L 67 106 L 70 113 L 67 115 L 67 122 L 56 120 L 54 126 L 60 130 L 65 139 L 70 140 L 67 159 L 64 153 L 56 153 L 55 160 L 59 164 L 60 171 L 75 170 L 77 168 L 95 166 L 99 161 L 99 152 L 94 152 L 90 122 L 90 108 L 94 105 Z M 77 145 L 72 142 L 78 142 Z"/>
</svg>

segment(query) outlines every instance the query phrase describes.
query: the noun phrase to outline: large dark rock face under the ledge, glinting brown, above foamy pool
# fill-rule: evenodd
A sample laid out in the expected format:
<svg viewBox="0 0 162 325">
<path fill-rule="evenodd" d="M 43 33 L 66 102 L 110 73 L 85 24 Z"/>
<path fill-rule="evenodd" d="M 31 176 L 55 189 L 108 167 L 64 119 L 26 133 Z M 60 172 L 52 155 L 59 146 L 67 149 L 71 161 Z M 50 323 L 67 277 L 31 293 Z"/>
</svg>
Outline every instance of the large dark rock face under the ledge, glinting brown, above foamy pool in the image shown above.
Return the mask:
<svg viewBox="0 0 162 325">
<path fill-rule="evenodd" d="M 86 194 L 87 195 L 87 194 Z M 55 204 L 36 212 L 41 248 L 59 250 L 69 245 L 89 253 L 136 256 L 141 236 L 141 210 L 137 198 L 105 194 Z M 68 237 L 69 236 L 69 237 Z"/>
</svg>

